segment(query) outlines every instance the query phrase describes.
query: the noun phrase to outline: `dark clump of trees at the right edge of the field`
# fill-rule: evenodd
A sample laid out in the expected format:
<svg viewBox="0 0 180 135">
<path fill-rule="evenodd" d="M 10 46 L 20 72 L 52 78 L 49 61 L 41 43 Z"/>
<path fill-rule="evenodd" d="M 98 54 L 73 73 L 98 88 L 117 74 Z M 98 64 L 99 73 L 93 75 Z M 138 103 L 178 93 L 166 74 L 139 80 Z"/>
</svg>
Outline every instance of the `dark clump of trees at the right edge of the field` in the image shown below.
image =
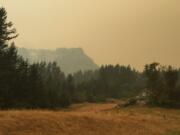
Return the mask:
<svg viewBox="0 0 180 135">
<path fill-rule="evenodd" d="M 147 77 L 150 102 L 165 107 L 178 107 L 180 89 L 177 69 L 163 67 L 157 63 L 146 65 L 144 74 Z"/>
</svg>

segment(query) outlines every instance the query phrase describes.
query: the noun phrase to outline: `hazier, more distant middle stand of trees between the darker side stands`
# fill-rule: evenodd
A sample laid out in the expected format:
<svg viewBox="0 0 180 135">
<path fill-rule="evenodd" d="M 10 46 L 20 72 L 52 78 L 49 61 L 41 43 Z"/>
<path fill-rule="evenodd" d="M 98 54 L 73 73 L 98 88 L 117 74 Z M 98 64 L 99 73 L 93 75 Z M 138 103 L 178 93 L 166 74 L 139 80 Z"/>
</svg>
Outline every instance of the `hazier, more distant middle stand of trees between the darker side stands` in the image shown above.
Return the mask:
<svg viewBox="0 0 180 135">
<path fill-rule="evenodd" d="M 89 102 L 132 97 L 145 87 L 143 75 L 130 66 L 106 65 L 94 72 L 78 72 L 74 78 L 78 80 L 77 90 L 82 91 Z"/>
</svg>

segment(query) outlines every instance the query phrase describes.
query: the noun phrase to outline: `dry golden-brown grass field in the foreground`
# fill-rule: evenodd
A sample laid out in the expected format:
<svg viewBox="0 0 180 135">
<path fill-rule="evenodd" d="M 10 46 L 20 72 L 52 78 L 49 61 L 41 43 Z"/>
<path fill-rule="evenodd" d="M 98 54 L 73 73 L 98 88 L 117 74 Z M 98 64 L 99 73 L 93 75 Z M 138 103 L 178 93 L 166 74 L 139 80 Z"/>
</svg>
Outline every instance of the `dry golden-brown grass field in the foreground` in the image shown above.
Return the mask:
<svg viewBox="0 0 180 135">
<path fill-rule="evenodd" d="M 0 112 L 0 135 L 180 135 L 180 110 L 79 104 L 59 111 Z"/>
</svg>

